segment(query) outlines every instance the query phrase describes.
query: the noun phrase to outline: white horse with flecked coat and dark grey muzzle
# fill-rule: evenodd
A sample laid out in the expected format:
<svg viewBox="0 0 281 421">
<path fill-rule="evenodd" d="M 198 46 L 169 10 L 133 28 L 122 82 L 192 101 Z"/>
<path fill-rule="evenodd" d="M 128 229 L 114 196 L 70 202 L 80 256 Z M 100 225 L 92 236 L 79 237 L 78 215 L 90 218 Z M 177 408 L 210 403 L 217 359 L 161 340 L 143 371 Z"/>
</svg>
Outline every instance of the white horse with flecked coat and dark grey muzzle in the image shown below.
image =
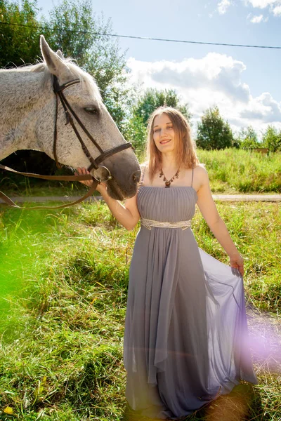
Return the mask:
<svg viewBox="0 0 281 421">
<path fill-rule="evenodd" d="M 112 117 L 107 112 L 93 78 L 55 53 L 41 36 L 41 53 L 44 62 L 17 69 L 0 70 L 0 160 L 19 149 L 45 152 L 54 159 L 53 133 L 55 124 L 55 93 L 53 75 L 63 85 L 74 79 L 76 83 L 63 92 L 86 130 L 106 151 L 125 143 Z M 58 161 L 72 168 L 90 165 L 70 124 L 65 125 L 65 112 L 58 101 L 58 135 L 56 154 Z M 93 142 L 79 133 L 90 155 L 100 155 Z M 136 194 L 140 167 L 132 149 L 125 149 L 101 162 L 112 174 L 107 189 L 115 199 L 122 200 Z M 103 168 L 98 170 L 102 172 Z M 96 172 L 97 174 L 97 172 Z"/>
</svg>

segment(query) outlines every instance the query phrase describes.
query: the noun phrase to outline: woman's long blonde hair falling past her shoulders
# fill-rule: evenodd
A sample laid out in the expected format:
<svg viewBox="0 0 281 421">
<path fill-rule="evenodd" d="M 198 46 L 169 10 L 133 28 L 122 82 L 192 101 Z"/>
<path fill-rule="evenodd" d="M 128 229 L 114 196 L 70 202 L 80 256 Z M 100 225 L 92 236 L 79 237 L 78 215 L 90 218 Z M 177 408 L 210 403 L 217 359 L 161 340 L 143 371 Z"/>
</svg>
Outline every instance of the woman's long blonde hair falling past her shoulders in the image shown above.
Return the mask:
<svg viewBox="0 0 281 421">
<path fill-rule="evenodd" d="M 185 116 L 172 107 L 159 107 L 150 115 L 148 121 L 147 162 L 149 177 L 152 180 L 162 167 L 162 153 L 157 149 L 153 140 L 153 123 L 156 116 L 166 114 L 173 123 L 176 138 L 176 163 L 178 168 L 195 168 L 200 161 L 195 152 L 195 144 L 190 137 L 190 125 Z"/>
</svg>

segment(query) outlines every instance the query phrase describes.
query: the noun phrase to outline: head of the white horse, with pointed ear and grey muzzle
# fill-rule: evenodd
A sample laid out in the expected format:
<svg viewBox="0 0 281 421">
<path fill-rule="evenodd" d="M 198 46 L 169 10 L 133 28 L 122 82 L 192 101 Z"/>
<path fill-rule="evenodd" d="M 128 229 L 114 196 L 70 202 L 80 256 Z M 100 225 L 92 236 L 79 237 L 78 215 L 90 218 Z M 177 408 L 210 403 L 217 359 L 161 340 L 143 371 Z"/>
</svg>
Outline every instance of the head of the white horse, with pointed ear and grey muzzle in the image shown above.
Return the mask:
<svg viewBox="0 0 281 421">
<path fill-rule="evenodd" d="M 85 154 L 85 149 L 87 149 L 93 159 L 96 159 L 100 156 L 99 149 L 103 149 L 106 152 L 108 149 L 123 145 L 126 142 L 112 117 L 107 112 L 93 78 L 70 60 L 65 60 L 61 53 L 55 53 L 46 43 L 44 36 L 41 36 L 41 52 L 48 71 L 56 76 L 60 86 L 74 79 L 79 79 L 79 83 L 68 86 L 63 91 L 63 94 L 72 107 L 73 112 L 77 114 L 82 126 L 91 134 L 99 147 L 81 130 L 81 127 L 74 119 L 74 124 L 79 131 L 81 140 L 86 146 L 84 150 L 82 149 L 77 135 L 72 130 L 72 126 L 65 124 L 65 112 L 63 105 L 59 101 L 56 145 L 58 161 L 72 168 L 89 168 L 91 161 L 89 156 L 87 157 L 87 152 Z M 46 126 L 50 122 L 50 119 L 46 118 L 46 116 L 50 116 L 50 114 L 53 116 L 54 124 L 55 93 L 52 94 L 51 101 L 46 100 L 44 112 L 41 113 L 41 118 L 39 118 L 37 123 L 37 133 L 40 133 L 39 137 L 42 139 L 41 148 L 46 154 L 55 158 L 53 145 L 50 142 L 50 127 Z M 140 178 L 141 171 L 132 149 L 125 149 L 112 154 L 112 156 L 100 162 L 98 170 L 92 169 L 91 173 L 101 179 L 107 178 L 108 172 L 103 166 L 108 168 L 112 175 L 112 179 L 107 181 L 107 191 L 110 196 L 114 199 L 122 200 L 136 194 L 136 183 Z"/>
</svg>

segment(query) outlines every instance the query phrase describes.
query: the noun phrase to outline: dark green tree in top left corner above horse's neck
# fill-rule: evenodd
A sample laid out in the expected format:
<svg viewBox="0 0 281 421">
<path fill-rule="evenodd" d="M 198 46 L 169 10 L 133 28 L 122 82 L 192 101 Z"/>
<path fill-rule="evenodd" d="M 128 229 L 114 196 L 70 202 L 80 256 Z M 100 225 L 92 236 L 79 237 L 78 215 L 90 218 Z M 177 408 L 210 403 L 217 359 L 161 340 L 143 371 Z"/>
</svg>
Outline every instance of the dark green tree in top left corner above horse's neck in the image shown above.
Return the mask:
<svg viewBox="0 0 281 421">
<path fill-rule="evenodd" d="M 32 64 L 40 57 L 39 27 L 36 1 L 0 0 L 0 67 Z M 27 25 L 27 26 L 20 26 Z"/>
</svg>

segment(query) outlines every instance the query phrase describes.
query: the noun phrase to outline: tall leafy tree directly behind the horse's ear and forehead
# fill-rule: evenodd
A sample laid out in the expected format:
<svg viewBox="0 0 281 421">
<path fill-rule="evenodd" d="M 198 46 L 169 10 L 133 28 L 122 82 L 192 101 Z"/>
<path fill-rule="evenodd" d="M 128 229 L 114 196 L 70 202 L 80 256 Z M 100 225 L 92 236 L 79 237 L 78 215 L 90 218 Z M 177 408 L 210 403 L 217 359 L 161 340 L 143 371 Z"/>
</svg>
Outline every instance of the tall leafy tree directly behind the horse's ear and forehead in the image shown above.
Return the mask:
<svg viewBox="0 0 281 421">
<path fill-rule="evenodd" d="M 112 33 L 112 22 L 103 15 L 93 14 L 91 0 L 63 0 L 46 20 L 51 48 L 60 48 L 65 57 L 73 57 L 79 67 L 91 74 L 100 88 L 105 105 L 122 130 L 130 89 L 126 87 L 127 69 L 124 53 L 120 52 Z"/>
</svg>

